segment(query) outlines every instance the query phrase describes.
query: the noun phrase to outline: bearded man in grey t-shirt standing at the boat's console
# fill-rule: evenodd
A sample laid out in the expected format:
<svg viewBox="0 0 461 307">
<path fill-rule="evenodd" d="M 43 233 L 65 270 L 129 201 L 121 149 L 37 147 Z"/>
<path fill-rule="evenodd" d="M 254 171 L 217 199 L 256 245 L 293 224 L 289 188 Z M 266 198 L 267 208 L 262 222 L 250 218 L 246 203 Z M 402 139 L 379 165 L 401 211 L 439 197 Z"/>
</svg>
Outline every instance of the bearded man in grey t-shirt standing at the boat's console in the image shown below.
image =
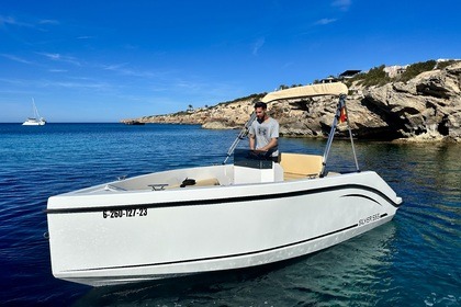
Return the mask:
<svg viewBox="0 0 461 307">
<path fill-rule="evenodd" d="M 268 105 L 255 103 L 256 121 L 249 128 L 250 150 L 261 151 L 267 159 L 279 161 L 279 123 L 267 113 Z"/>
</svg>

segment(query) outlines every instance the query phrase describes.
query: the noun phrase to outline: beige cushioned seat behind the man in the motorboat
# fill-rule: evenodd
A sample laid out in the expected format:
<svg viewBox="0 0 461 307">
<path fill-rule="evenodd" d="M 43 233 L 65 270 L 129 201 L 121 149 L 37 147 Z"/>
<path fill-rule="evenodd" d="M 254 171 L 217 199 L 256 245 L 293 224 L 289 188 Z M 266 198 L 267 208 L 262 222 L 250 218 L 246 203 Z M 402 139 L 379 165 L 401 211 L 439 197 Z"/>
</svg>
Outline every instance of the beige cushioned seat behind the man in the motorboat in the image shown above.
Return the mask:
<svg viewBox="0 0 461 307">
<path fill-rule="evenodd" d="M 283 180 L 316 178 L 322 172 L 322 156 L 281 152 L 279 161 L 283 168 Z"/>
</svg>

